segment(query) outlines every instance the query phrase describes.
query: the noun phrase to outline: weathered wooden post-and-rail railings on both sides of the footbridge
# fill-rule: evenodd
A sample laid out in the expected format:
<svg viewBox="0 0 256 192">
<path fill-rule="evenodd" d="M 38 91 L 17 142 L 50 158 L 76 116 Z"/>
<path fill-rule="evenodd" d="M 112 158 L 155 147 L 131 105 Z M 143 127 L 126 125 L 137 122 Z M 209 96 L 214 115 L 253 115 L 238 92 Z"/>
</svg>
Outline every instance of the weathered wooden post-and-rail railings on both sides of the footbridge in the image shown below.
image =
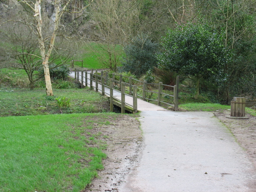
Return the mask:
<svg viewBox="0 0 256 192">
<path fill-rule="evenodd" d="M 166 104 L 172 106 L 174 110 L 178 110 L 178 90 L 179 90 L 179 76 L 176 79 L 176 85 L 170 86 L 159 83 L 148 83 L 143 82 L 132 77 L 109 74 L 107 71 L 101 71 L 100 73 L 95 70 L 91 72 L 79 72 L 75 71 L 75 79 L 79 83 L 81 81 L 81 87 L 88 86 L 90 88 L 95 88 L 96 92 L 102 92 L 102 95 L 107 94 L 110 96 L 110 110 L 113 111 L 114 103 L 121 106 L 122 113 L 125 111 L 125 107 L 133 113 L 137 112 L 137 98 L 142 98 L 144 101 L 154 101 L 157 102 L 158 106 Z M 88 83 L 89 80 L 89 83 Z M 92 83 L 95 82 L 95 85 Z M 100 85 L 100 86 L 99 86 Z M 105 92 L 105 88 L 110 89 L 110 93 Z M 150 88 L 153 90 L 150 90 Z M 173 94 L 171 91 L 164 91 L 173 89 Z M 121 99 L 113 96 L 113 90 L 120 92 Z M 139 93 L 139 94 L 138 94 Z M 140 95 L 141 94 L 141 95 Z M 151 98 L 152 94 L 157 94 L 155 99 Z M 133 97 L 133 105 L 125 102 L 125 96 Z M 168 100 L 163 100 L 163 97 L 173 98 L 172 102 Z"/>
</svg>

